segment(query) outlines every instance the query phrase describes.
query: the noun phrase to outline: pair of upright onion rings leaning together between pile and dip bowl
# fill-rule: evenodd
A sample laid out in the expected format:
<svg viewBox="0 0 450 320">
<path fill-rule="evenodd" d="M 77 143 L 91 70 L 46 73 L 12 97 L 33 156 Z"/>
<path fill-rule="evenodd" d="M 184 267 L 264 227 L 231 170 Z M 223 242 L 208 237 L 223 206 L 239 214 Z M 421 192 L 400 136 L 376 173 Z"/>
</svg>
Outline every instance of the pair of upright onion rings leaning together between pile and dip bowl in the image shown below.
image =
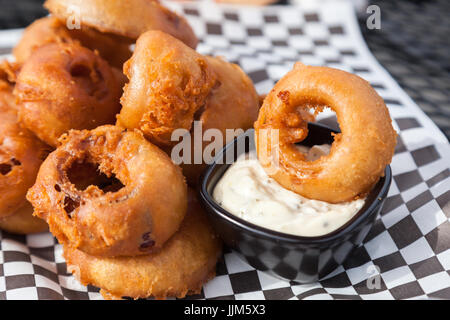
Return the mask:
<svg viewBox="0 0 450 320">
<path fill-rule="evenodd" d="M 202 56 L 163 32 L 148 31 L 138 39 L 124 72 L 130 81 L 117 124 L 142 130 L 169 153 L 178 143 L 171 139 L 174 130 L 191 130 L 194 120 L 201 122 L 203 131 L 216 128 L 226 136 L 226 129 L 252 127 L 258 116 L 256 90 L 237 65 Z M 204 163 L 194 164 L 194 152 L 191 155 L 183 172 L 195 184 Z"/>
</svg>

